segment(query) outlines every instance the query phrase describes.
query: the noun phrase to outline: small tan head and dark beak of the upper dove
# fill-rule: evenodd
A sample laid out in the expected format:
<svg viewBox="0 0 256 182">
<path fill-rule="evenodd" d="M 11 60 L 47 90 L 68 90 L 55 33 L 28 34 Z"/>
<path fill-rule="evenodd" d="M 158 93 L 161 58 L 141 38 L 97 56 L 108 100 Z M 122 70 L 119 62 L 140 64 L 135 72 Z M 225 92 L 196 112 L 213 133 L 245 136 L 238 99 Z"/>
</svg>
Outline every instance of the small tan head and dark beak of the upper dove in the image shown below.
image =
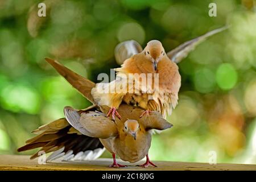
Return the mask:
<svg viewBox="0 0 256 182">
<path fill-rule="evenodd" d="M 154 66 L 156 71 L 158 62 L 163 59 L 164 55 L 166 54 L 162 43 L 158 40 L 151 40 L 147 43 L 147 46 L 143 50 L 144 55 L 147 57 L 148 60 Z"/>
</svg>

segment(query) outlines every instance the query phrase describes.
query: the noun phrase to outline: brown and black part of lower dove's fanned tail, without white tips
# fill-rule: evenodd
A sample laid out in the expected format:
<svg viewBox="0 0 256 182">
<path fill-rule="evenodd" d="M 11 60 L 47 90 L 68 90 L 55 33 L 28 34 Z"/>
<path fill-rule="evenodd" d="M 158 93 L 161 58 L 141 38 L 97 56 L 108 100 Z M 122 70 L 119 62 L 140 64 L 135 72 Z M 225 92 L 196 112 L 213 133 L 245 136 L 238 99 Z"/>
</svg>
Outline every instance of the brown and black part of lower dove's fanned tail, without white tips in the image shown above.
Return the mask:
<svg viewBox="0 0 256 182">
<path fill-rule="evenodd" d="M 72 150 L 73 155 L 76 155 L 80 151 L 103 148 L 98 138 L 81 135 L 65 118 L 57 119 L 41 126 L 39 129 L 32 131 L 32 133 L 37 134 L 37 136 L 28 139 L 26 145 L 18 148 L 18 152 L 42 147 L 39 151 L 44 151 L 47 154 L 63 148 L 63 151 L 61 151 L 63 155 L 70 150 Z M 39 151 L 32 155 L 30 159 L 37 158 Z"/>
</svg>

